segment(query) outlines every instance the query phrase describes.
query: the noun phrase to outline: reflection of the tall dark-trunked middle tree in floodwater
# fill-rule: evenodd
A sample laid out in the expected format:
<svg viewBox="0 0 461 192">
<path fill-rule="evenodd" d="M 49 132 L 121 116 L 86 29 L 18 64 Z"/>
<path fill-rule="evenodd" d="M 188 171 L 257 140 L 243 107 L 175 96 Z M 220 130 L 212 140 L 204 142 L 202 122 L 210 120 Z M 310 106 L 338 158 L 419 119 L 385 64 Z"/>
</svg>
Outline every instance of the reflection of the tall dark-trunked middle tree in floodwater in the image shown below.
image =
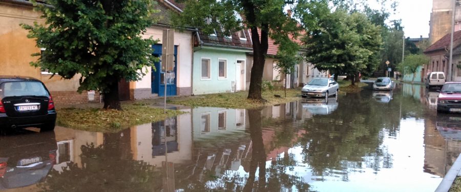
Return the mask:
<svg viewBox="0 0 461 192">
<path fill-rule="evenodd" d="M 246 143 L 251 143 L 246 145 L 249 150 L 245 151 L 248 153 L 246 157 L 242 159 L 242 166 L 248 174 L 239 174 L 234 170 L 231 170 L 229 166 L 224 166 L 223 175 L 218 174 L 216 171 L 221 167 L 220 158 L 217 158 L 215 164 L 211 169 L 206 169 L 202 172 L 202 168 L 206 167 L 208 164 L 205 162 L 207 157 L 212 157 L 211 154 L 216 154 L 220 156 L 221 149 L 215 149 L 218 152 L 203 152 L 199 157 L 198 161 L 202 161 L 200 166 L 197 167 L 181 167 L 179 170 L 180 174 L 176 179 L 178 181 L 177 188 L 186 188 L 191 191 L 284 191 L 291 190 L 293 188 L 298 189 L 299 191 L 307 191 L 309 185 L 303 182 L 302 177 L 291 174 L 294 167 L 296 166 L 296 161 L 294 155 L 288 154 L 285 151 L 284 156 L 278 156 L 274 160 L 270 161 L 270 165 L 266 167 L 267 161 L 267 151 L 274 150 L 274 147 L 280 147 L 274 145 L 274 142 L 271 143 L 272 148 L 267 148 L 263 143 L 263 130 L 262 130 L 262 115 L 260 110 L 249 110 L 248 111 L 249 119 L 249 130 L 250 141 Z M 264 119 L 265 120 L 265 119 Z M 274 137 L 277 137 L 278 134 L 281 134 L 283 131 L 276 132 Z M 291 132 L 289 135 L 288 141 L 295 137 L 295 134 Z M 275 138 L 277 140 L 277 138 Z M 223 141 L 220 141 L 223 142 Z M 229 145 L 228 148 L 232 148 L 232 153 L 230 157 L 238 156 L 236 151 L 238 146 L 241 146 L 245 141 L 234 142 Z M 285 141 L 280 141 L 279 143 L 286 143 Z M 222 144 L 222 143 L 221 143 Z M 219 163 L 218 163 L 219 162 Z M 230 164 L 230 163 L 229 163 Z M 211 166 L 210 166 L 211 167 Z M 205 168 L 203 168 L 205 169 Z M 195 175 L 191 173 L 194 172 Z M 201 175 L 198 174 L 201 172 Z"/>
</svg>

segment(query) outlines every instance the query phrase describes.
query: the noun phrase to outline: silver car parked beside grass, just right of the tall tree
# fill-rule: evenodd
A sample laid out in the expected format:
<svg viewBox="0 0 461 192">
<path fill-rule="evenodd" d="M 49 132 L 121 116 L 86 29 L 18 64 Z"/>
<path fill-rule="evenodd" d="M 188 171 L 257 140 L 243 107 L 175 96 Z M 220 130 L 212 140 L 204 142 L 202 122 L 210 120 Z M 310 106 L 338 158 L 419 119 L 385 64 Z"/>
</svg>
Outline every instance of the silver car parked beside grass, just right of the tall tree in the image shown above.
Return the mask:
<svg viewBox="0 0 461 192">
<path fill-rule="evenodd" d="M 325 97 L 337 95 L 339 91 L 338 82 L 332 78 L 313 78 L 301 90 L 302 97 Z"/>
</svg>

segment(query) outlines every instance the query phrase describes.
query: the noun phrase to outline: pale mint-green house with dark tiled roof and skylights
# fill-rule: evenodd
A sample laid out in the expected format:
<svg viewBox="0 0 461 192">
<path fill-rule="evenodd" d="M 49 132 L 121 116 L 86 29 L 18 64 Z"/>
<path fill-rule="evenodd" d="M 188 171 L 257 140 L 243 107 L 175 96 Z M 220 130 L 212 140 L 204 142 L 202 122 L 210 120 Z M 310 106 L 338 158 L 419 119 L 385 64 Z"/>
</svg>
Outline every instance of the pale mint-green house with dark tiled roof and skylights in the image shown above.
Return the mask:
<svg viewBox="0 0 461 192">
<path fill-rule="evenodd" d="M 238 16 L 238 15 L 237 15 Z M 194 41 L 193 91 L 194 95 L 246 90 L 248 60 L 253 50 L 249 31 L 215 29 L 214 34 L 196 33 Z"/>
</svg>

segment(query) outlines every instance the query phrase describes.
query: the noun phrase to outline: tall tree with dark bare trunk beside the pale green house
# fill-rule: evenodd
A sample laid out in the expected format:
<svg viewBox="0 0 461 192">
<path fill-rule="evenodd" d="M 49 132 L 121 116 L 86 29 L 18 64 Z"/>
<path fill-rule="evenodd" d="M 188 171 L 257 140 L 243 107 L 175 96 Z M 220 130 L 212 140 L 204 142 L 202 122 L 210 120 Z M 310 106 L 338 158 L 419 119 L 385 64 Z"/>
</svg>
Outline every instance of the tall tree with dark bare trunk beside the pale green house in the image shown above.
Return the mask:
<svg viewBox="0 0 461 192">
<path fill-rule="evenodd" d="M 275 41 L 275 44 L 281 45 L 287 39 L 296 38 L 301 27 L 304 26 L 304 24 L 299 25 L 296 18 L 301 18 L 305 12 L 315 11 L 316 7 L 312 5 L 318 2 L 328 4 L 330 1 L 190 0 L 183 2 L 185 5 L 183 12 L 173 15 L 172 20 L 175 26 L 193 26 L 202 30 L 205 34 L 211 34 L 214 29 L 220 29 L 221 26 L 231 30 L 239 30 L 243 27 L 250 30 L 254 61 L 248 99 L 262 100 L 261 83 L 268 39 L 271 38 Z M 295 14 L 290 16 L 284 11 L 286 7 L 295 8 Z M 240 19 L 240 16 L 236 16 L 237 14 L 241 14 L 244 19 Z"/>
</svg>

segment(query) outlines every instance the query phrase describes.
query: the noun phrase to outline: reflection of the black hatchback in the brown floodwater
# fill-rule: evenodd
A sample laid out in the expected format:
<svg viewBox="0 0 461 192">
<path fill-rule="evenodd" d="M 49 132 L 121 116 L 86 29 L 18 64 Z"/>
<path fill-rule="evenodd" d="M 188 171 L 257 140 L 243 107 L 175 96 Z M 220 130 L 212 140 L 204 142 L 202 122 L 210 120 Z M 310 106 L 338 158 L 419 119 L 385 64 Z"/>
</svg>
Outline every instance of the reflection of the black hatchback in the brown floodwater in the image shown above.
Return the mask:
<svg viewBox="0 0 461 192">
<path fill-rule="evenodd" d="M 54 132 L 1 137 L 0 146 L 0 189 L 41 182 L 56 163 Z"/>
</svg>

